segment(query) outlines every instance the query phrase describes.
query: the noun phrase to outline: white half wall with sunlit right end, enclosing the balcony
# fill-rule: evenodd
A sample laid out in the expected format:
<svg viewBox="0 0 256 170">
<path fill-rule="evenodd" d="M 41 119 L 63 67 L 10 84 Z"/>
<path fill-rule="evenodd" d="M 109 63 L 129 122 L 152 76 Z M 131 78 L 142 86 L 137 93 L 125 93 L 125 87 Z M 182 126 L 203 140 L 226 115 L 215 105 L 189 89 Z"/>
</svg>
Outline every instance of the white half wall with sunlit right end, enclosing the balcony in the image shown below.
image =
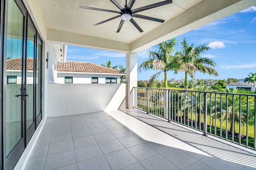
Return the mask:
<svg viewBox="0 0 256 170">
<path fill-rule="evenodd" d="M 116 110 L 126 84 L 48 84 L 47 117 Z"/>
</svg>

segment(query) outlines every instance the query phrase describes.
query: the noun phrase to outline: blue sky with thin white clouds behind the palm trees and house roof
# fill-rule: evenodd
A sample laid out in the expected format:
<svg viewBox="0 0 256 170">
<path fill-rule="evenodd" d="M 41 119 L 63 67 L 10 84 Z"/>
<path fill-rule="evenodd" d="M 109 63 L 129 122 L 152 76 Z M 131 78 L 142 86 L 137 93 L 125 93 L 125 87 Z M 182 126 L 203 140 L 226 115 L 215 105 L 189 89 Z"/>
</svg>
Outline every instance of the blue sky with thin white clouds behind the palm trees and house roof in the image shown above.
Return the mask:
<svg viewBox="0 0 256 170">
<path fill-rule="evenodd" d="M 256 73 L 256 6 L 232 14 L 185 34 L 176 39 L 176 51 L 181 49 L 180 42 L 186 38 L 189 45 L 207 44 L 211 49 L 202 54 L 217 63 L 215 67 L 219 76 L 196 72 L 196 79 L 241 79 L 249 73 Z M 157 46 L 150 47 L 138 53 L 138 65 L 148 59 L 148 51 L 154 51 Z M 110 60 L 112 66 L 125 66 L 125 53 L 103 51 L 68 45 L 67 61 L 84 61 L 104 64 Z M 138 73 L 138 80 L 148 80 L 156 71 Z M 184 79 L 184 73 L 168 72 L 168 79 Z M 162 74 L 159 80 L 164 79 Z M 190 77 L 188 79 L 191 79 Z"/>
</svg>

